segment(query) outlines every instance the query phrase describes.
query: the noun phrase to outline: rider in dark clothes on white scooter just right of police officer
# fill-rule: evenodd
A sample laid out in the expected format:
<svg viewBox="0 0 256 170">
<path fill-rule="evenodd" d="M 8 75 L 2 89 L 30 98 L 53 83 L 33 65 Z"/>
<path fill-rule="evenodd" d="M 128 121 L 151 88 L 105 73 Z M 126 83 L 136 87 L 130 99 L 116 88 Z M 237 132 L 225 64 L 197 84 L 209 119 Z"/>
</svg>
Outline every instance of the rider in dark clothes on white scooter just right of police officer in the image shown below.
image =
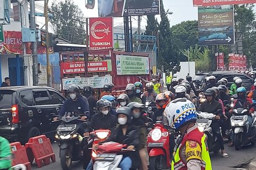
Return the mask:
<svg viewBox="0 0 256 170">
<path fill-rule="evenodd" d="M 220 117 L 222 117 L 222 112 L 219 112 L 219 110 L 222 111 L 222 105 L 218 101 L 214 100 L 216 93 L 213 89 L 207 89 L 204 94 L 206 96 L 206 101 L 199 105 L 198 111 L 216 114 L 211 127 L 213 134 L 217 137 L 219 147 L 222 150 L 222 156 L 224 158 L 228 158 L 228 154 L 224 149 L 223 138 L 219 130 L 220 124 L 218 120 L 220 120 Z"/>
</svg>

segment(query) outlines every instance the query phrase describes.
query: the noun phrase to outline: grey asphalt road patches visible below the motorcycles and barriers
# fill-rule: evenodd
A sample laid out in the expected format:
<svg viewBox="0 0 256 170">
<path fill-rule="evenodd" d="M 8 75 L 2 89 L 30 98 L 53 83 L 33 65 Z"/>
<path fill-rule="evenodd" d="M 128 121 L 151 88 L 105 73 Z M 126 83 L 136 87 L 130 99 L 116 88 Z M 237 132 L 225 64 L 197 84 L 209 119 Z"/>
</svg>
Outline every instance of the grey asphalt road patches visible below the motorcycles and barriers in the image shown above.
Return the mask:
<svg viewBox="0 0 256 170">
<path fill-rule="evenodd" d="M 62 169 L 60 165 L 60 159 L 59 159 L 59 147 L 55 143 L 53 143 L 52 146 L 53 146 L 54 153 L 56 155 L 56 162 L 54 163 L 51 162 L 49 165 L 45 165 L 41 168 L 38 168 L 36 163 L 33 162 L 32 169 L 40 169 L 40 170 L 49 170 L 49 169 L 61 170 Z M 211 153 L 213 169 L 218 169 L 218 170 L 219 169 L 221 170 L 236 169 L 234 166 L 246 163 L 255 158 L 256 147 L 252 147 L 251 145 L 248 145 L 246 147 L 243 147 L 241 150 L 236 151 L 234 147 L 228 147 L 226 143 L 225 149 L 229 154 L 228 159 L 222 158 L 222 155 L 220 153 L 218 154 Z M 82 163 L 73 162 L 71 169 L 74 169 L 74 170 L 83 169 Z"/>
</svg>

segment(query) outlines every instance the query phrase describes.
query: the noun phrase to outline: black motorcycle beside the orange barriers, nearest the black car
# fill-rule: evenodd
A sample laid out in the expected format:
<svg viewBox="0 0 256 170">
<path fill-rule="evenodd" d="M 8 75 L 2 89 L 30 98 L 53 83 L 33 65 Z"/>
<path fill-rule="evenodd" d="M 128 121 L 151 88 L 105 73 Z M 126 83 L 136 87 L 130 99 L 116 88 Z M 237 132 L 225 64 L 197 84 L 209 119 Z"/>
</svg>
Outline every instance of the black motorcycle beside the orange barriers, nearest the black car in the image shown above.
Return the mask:
<svg viewBox="0 0 256 170">
<path fill-rule="evenodd" d="M 60 147 L 61 167 L 68 170 L 72 161 L 79 161 L 83 158 L 83 137 L 78 133 L 77 123 L 85 122 L 85 120 L 68 112 L 63 117 L 58 117 L 56 121 L 61 121 L 55 134 L 55 141 Z"/>
</svg>

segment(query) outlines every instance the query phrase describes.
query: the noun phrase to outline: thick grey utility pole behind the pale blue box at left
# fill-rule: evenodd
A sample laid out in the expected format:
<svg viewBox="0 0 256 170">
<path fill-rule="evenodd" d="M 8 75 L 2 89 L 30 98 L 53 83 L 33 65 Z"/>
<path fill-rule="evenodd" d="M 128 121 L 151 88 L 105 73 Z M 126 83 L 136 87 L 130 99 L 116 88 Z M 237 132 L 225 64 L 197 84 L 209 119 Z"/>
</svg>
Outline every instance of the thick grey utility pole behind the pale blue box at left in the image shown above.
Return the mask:
<svg viewBox="0 0 256 170">
<path fill-rule="evenodd" d="M 34 13 L 35 13 L 34 0 L 30 0 L 30 28 L 36 29 L 36 17 L 34 16 Z M 33 86 L 38 86 L 37 41 L 32 42 L 32 53 L 33 53 Z"/>
</svg>

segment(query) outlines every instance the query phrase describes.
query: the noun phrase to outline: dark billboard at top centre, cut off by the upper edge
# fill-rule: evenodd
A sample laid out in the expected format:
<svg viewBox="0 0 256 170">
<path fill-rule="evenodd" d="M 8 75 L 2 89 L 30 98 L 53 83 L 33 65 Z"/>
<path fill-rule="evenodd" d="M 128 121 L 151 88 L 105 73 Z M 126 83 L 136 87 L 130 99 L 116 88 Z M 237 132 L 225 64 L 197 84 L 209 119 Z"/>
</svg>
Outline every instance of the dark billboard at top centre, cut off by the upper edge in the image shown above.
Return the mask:
<svg viewBox="0 0 256 170">
<path fill-rule="evenodd" d="M 160 14 L 159 0 L 98 0 L 99 17 Z"/>
</svg>

